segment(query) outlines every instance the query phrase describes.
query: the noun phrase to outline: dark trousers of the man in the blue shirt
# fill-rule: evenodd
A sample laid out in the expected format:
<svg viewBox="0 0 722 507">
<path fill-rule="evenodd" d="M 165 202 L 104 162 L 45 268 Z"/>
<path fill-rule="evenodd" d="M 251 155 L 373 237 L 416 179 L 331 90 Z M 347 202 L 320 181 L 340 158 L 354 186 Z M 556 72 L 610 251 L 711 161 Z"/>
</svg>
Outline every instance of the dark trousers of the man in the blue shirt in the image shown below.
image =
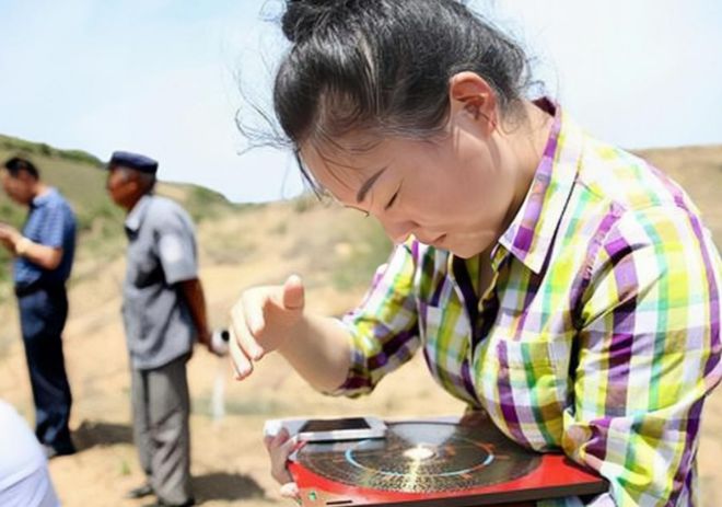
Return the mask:
<svg viewBox="0 0 722 507">
<path fill-rule="evenodd" d="M 72 396 L 61 338 L 68 318 L 66 289 L 54 286 L 19 292 L 18 306 L 35 402 L 35 435 L 59 452 L 69 451 Z"/>
</svg>

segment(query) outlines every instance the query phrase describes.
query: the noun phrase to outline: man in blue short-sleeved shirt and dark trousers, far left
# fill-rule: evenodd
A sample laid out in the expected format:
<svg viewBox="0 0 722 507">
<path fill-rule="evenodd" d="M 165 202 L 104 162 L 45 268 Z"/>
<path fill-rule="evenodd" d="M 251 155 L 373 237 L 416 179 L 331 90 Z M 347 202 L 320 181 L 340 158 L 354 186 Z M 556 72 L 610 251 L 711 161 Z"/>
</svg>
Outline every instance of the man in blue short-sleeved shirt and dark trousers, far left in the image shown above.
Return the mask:
<svg viewBox="0 0 722 507">
<path fill-rule="evenodd" d="M 48 458 L 71 454 L 68 419 L 72 402 L 62 355 L 68 316 L 66 281 L 75 250 L 75 218 L 35 165 L 14 157 L 0 169 L 8 196 L 30 208 L 22 233 L 0 222 L 0 243 L 14 256 L 15 295 L 35 401 L 35 435 Z"/>
</svg>

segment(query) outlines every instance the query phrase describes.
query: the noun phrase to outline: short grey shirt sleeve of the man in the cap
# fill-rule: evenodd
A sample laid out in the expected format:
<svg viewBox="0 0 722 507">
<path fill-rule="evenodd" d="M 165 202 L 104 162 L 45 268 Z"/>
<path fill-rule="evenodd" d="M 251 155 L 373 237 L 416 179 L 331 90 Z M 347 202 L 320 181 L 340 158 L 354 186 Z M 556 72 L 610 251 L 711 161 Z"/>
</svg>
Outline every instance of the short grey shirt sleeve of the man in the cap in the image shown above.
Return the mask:
<svg viewBox="0 0 722 507">
<path fill-rule="evenodd" d="M 195 233 L 182 214 L 168 212 L 158 228 L 158 257 L 171 285 L 198 277 Z"/>
</svg>

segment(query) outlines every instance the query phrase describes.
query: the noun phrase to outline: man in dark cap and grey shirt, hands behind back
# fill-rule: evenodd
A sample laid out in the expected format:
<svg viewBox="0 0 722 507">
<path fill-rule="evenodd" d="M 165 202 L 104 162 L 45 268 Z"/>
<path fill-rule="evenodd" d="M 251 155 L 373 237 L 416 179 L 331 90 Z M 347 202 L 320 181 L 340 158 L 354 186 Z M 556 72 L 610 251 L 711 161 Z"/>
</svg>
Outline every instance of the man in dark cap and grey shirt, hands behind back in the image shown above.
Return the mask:
<svg viewBox="0 0 722 507">
<path fill-rule="evenodd" d="M 180 206 L 153 194 L 158 162 L 116 151 L 110 198 L 127 211 L 128 264 L 123 318 L 130 353 L 133 434 L 159 506 L 194 504 L 186 361 L 196 339 L 210 349 L 194 226 Z"/>
</svg>

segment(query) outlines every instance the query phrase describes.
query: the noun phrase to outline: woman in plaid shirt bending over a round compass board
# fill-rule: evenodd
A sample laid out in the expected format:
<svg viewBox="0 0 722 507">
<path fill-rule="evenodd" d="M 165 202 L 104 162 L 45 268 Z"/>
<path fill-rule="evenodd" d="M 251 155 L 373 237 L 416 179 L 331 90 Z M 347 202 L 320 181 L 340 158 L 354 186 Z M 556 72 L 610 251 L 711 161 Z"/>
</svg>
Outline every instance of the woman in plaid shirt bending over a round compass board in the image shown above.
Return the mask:
<svg viewBox="0 0 722 507">
<path fill-rule="evenodd" d="M 276 114 L 304 174 L 397 247 L 341 325 L 298 277 L 245 291 L 237 377 L 278 350 L 357 395 L 422 349 L 511 439 L 604 475 L 592 505 L 698 505 L 722 263 L 686 194 L 525 99 L 522 50 L 458 2 L 289 1 L 282 25 Z M 293 440 L 267 446 L 289 482 Z"/>
</svg>

